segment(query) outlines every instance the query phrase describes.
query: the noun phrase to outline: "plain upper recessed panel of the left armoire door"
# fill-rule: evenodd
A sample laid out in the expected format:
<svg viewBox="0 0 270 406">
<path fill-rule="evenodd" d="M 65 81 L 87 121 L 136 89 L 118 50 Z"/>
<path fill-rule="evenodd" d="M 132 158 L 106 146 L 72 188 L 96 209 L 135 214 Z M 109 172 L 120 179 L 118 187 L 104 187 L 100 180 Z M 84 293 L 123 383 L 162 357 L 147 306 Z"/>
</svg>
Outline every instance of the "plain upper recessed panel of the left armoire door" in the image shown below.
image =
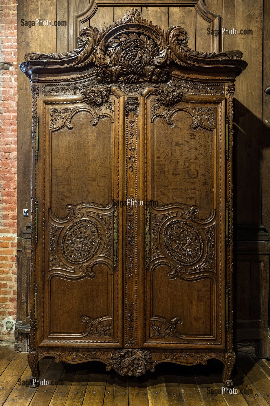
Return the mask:
<svg viewBox="0 0 270 406">
<path fill-rule="evenodd" d="M 109 203 L 111 122 L 105 118 L 94 127 L 91 119 L 80 112 L 72 130 L 51 132 L 51 208 L 58 217 L 66 216 L 68 204 Z"/>
</svg>

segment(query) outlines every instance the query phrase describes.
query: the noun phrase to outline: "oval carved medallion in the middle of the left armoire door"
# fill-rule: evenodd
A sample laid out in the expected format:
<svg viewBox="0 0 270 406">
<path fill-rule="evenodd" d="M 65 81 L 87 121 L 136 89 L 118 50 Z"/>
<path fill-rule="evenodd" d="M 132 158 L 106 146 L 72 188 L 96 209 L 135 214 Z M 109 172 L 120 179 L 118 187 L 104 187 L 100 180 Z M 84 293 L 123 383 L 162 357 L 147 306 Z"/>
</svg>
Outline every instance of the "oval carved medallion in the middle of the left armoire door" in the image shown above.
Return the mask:
<svg viewBox="0 0 270 406">
<path fill-rule="evenodd" d="M 92 258 L 101 244 L 101 231 L 94 221 L 84 218 L 71 224 L 64 233 L 61 251 L 71 263 Z"/>
</svg>

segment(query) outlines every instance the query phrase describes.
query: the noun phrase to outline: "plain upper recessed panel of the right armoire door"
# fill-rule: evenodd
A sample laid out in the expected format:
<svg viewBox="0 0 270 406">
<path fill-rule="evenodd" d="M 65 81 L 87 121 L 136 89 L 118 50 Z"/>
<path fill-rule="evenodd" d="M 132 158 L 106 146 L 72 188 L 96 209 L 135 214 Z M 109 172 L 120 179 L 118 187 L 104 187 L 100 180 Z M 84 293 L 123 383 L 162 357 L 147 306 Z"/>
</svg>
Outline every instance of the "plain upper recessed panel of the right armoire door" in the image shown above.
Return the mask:
<svg viewBox="0 0 270 406">
<path fill-rule="evenodd" d="M 157 118 L 153 123 L 153 198 L 159 205 L 184 203 L 199 207 L 199 218 L 212 209 L 212 131 L 193 129 L 184 111 L 173 117 L 174 125 Z"/>
</svg>

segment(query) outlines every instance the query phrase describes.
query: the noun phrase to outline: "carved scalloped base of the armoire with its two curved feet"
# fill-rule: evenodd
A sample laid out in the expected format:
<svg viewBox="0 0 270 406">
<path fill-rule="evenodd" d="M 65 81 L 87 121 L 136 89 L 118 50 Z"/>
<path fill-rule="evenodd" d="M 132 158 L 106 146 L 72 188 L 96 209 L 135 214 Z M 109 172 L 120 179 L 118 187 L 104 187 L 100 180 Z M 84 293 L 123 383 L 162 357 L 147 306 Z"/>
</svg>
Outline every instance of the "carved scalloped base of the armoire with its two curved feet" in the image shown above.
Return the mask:
<svg viewBox="0 0 270 406">
<path fill-rule="evenodd" d="M 146 350 L 144 348 L 121 348 L 119 350 L 96 348 L 92 350 L 83 348 L 43 348 L 39 352 L 28 354 L 32 374 L 37 374 L 37 361 L 44 356 L 54 356 L 56 362 L 81 363 L 97 360 L 106 363 L 106 370 L 113 368 L 122 376 L 141 376 L 147 370 L 154 371 L 155 365 L 160 362 L 171 361 L 181 365 L 206 365 L 210 358 L 216 358 L 223 362 L 223 382 L 231 387 L 229 379 L 235 363 L 235 354 L 232 352 L 209 350 Z"/>
</svg>

